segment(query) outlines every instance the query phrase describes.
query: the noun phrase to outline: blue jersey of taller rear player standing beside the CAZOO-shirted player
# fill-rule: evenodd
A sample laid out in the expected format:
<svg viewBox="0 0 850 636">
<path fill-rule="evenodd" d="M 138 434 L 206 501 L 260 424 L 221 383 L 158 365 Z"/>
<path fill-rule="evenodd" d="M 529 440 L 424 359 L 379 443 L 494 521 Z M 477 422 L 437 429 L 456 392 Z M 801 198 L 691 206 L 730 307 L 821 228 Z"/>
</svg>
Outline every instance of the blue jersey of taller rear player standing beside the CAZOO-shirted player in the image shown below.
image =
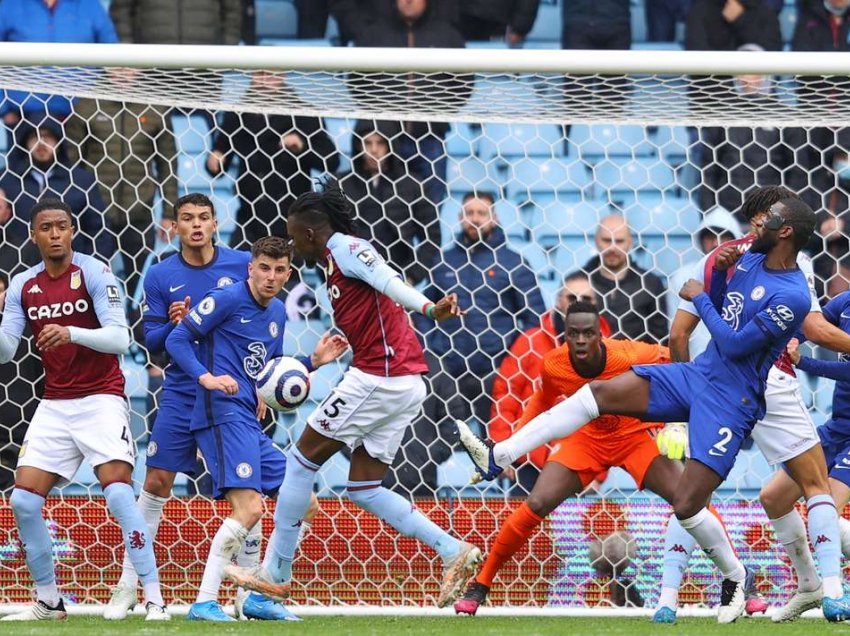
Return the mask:
<svg viewBox="0 0 850 636">
<path fill-rule="evenodd" d="M 142 303 L 142 324 L 145 344 L 151 353 L 165 350 L 165 339 L 174 329 L 168 320 L 171 303 L 183 301 L 197 304 L 215 287 L 224 287 L 248 277 L 251 253 L 229 247 L 215 248 L 213 259 L 206 265 L 189 265 L 179 253 L 163 259 L 150 268 L 145 276 L 145 299 Z M 197 383 L 173 362 L 165 369 L 163 389 L 182 396 L 193 404 Z"/>
</svg>

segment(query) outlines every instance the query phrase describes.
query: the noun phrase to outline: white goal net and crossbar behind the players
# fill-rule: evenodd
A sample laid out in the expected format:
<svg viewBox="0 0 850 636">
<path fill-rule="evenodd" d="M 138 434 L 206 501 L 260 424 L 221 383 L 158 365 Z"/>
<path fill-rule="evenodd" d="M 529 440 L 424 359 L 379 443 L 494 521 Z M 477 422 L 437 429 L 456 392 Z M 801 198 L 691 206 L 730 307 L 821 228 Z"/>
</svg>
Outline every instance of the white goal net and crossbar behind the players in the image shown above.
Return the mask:
<svg viewBox="0 0 850 636">
<path fill-rule="evenodd" d="M 530 357 L 560 337 L 569 297 L 591 293 L 576 291 L 581 281 L 565 287 L 567 275 L 587 273 L 612 334 L 664 340 L 687 266 L 712 237 L 747 231 L 736 212 L 748 190 L 785 185 L 819 215 L 820 232 L 807 248 L 818 293 L 827 299 L 850 287 L 848 75 L 846 56 L 819 54 L 5 44 L 0 87 L 9 98 L 29 97 L 23 119 L 15 121 L 17 109 L 6 119 L 0 270 L 9 277 L 37 258 L 27 214 L 51 192 L 78 215 L 77 249 L 109 261 L 124 282 L 136 334 L 122 366 L 138 489 L 168 364 L 144 346 L 142 281 L 176 248 L 167 221 L 174 199 L 210 196 L 219 242 L 244 248 L 285 231 L 288 205 L 315 177 L 340 175 L 362 236 L 410 282 L 457 292 L 469 311 L 455 324 L 416 323 L 430 356 L 431 393 L 387 483 L 486 550 L 546 452 L 492 484 L 470 485 L 472 467 L 457 451 L 451 422 L 468 419 L 495 438 L 512 430 L 538 386 L 528 375 Z M 55 96 L 73 100 L 70 114 L 33 107 L 54 108 Z M 51 171 L 51 162 L 61 169 Z M 493 223 L 469 230 L 464 204 L 482 201 Z M 614 243 L 628 251 L 631 271 L 617 284 L 602 272 L 611 249 L 600 254 L 604 232 L 597 232 L 610 215 L 628 225 Z M 285 352 L 308 354 L 333 317 L 320 272 L 300 265 L 293 278 Z M 542 332 L 524 334 L 540 329 L 541 319 Z M 275 441 L 297 439 L 345 364 L 314 374 L 308 402 L 270 425 Z M 41 391 L 29 339 L 14 363 L 0 367 L 0 380 L 0 483 L 7 489 L 0 495 L 0 602 L 22 603 L 32 584 L 8 488 Z M 812 417 L 823 422 L 833 383 L 801 373 L 800 386 Z M 295 602 L 432 604 L 439 560 L 353 507 L 344 497 L 347 470 L 339 455 L 319 472 L 321 510 L 294 566 Z M 770 475 L 757 450 L 744 450 L 715 501 L 773 604 L 794 582 L 757 499 Z M 207 492 L 208 475 L 181 476 L 165 508 L 157 557 L 169 603 L 194 600 L 209 542 L 227 514 Z M 104 602 L 123 548 L 91 469 L 54 491 L 47 510 L 63 593 L 78 603 Z M 492 601 L 649 606 L 660 588 L 669 514 L 622 470 L 599 475 L 505 566 Z M 270 515 L 264 525 L 268 537 Z M 229 595 L 225 589 L 225 602 Z M 719 577 L 697 551 L 682 599 L 718 598 Z"/>
</svg>

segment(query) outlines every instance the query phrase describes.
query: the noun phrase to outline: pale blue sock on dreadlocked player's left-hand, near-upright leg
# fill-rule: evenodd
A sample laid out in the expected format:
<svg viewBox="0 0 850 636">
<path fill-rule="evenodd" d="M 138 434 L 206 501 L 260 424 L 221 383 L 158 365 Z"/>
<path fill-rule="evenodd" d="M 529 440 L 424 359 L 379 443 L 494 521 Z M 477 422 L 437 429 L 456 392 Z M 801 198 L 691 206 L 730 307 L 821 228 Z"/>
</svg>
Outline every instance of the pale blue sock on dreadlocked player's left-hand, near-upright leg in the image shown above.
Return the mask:
<svg viewBox="0 0 850 636">
<path fill-rule="evenodd" d="M 310 495 L 319 468 L 295 446 L 289 451 L 286 475 L 275 505 L 274 533 L 263 559 L 263 568 L 275 581 L 289 581 L 292 578 L 292 559 L 298 547 L 301 520 L 310 507 Z"/>
</svg>

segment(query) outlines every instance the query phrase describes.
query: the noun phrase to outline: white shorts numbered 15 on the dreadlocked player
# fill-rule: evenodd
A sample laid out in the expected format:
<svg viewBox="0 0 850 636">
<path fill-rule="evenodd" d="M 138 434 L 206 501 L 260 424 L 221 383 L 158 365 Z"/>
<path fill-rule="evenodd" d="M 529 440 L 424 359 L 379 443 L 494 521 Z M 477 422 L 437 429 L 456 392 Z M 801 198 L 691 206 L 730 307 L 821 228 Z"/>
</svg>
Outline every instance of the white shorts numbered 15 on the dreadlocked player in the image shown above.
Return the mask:
<svg viewBox="0 0 850 636">
<path fill-rule="evenodd" d="M 307 425 L 351 450 L 362 444 L 371 457 L 390 465 L 405 429 L 419 415 L 425 392 L 420 375 L 387 378 L 351 367 Z"/>
</svg>

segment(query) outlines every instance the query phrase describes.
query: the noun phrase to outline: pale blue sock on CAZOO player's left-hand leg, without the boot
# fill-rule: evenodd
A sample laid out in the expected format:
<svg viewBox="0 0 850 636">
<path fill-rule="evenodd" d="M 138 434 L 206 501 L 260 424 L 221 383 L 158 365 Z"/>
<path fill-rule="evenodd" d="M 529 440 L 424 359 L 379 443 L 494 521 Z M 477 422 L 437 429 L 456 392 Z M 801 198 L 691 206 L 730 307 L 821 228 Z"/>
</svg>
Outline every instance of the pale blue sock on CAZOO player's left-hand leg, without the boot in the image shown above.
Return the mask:
<svg viewBox="0 0 850 636">
<path fill-rule="evenodd" d="M 59 590 L 53 569 L 53 541 L 41 516 L 44 497 L 15 488 L 9 503 L 15 513 L 18 534 L 24 544 L 27 567 L 38 590 L 38 598 L 56 607 L 59 604 Z"/>
</svg>

